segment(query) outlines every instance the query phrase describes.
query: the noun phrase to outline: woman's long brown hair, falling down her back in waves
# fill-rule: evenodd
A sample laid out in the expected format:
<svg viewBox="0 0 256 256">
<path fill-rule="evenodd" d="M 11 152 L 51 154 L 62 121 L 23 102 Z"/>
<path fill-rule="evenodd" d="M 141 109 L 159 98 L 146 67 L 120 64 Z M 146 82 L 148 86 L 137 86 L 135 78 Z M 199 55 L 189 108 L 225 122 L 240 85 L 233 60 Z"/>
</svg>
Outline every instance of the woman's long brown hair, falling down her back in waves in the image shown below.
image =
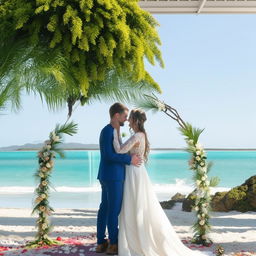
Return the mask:
<svg viewBox="0 0 256 256">
<path fill-rule="evenodd" d="M 139 131 L 143 132 L 145 134 L 144 159 L 145 159 L 145 161 L 147 161 L 149 150 L 150 150 L 150 147 L 149 147 L 150 144 L 149 144 L 149 141 L 148 141 L 148 136 L 147 136 L 146 130 L 144 128 L 144 123 L 147 120 L 146 114 L 141 109 L 133 109 L 130 113 L 129 118 L 132 119 L 133 123 L 137 125 Z"/>
</svg>

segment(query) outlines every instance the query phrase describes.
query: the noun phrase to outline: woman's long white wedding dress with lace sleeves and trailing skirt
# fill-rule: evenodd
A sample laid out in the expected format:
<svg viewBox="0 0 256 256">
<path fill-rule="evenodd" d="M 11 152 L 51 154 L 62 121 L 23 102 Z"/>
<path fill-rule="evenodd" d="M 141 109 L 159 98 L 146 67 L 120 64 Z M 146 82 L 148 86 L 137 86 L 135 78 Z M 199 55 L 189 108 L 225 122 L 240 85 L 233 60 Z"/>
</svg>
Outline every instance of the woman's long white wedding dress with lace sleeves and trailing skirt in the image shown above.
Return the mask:
<svg viewBox="0 0 256 256">
<path fill-rule="evenodd" d="M 137 144 L 139 142 L 139 145 Z M 117 153 L 143 158 L 145 135 L 135 133 L 124 144 L 114 130 Z M 205 256 L 186 247 L 158 202 L 144 163 L 126 165 L 122 209 L 119 215 L 119 256 Z M 209 254 L 207 254 L 209 255 Z"/>
</svg>

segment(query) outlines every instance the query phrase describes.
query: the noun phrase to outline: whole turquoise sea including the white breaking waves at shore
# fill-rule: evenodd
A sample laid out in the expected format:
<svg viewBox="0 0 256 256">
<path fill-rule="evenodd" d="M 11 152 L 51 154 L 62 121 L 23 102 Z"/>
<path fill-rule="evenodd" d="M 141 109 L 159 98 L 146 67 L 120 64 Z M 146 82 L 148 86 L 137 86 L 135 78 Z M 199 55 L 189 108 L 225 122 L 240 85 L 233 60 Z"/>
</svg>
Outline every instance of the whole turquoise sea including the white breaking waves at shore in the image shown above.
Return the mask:
<svg viewBox="0 0 256 256">
<path fill-rule="evenodd" d="M 0 152 L 0 207 L 32 208 L 34 173 L 38 167 L 37 152 Z M 53 208 L 98 208 L 100 186 L 97 180 L 100 154 L 92 151 L 66 151 L 57 158 L 51 177 Z M 219 185 L 212 190 L 228 190 L 256 175 L 256 151 L 208 151 L 213 162 L 210 177 L 218 176 Z M 159 200 L 175 193 L 193 190 L 189 154 L 184 151 L 152 150 L 147 163 L 149 177 Z"/>
</svg>

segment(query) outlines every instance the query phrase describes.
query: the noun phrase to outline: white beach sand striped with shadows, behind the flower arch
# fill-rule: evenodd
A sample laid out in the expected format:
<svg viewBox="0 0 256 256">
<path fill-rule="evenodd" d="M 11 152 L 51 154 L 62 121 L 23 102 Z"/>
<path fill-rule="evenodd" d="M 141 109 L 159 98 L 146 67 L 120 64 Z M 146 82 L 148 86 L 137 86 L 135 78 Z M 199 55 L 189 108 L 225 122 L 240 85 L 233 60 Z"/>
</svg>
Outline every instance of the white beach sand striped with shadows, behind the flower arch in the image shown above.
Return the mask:
<svg viewBox="0 0 256 256">
<path fill-rule="evenodd" d="M 191 226 L 194 213 L 182 212 L 181 204 L 165 211 L 181 239 L 192 237 Z M 83 236 L 96 233 L 97 210 L 56 209 L 52 216 L 56 238 Z M 31 209 L 0 208 L 0 246 L 13 246 L 32 240 L 36 216 L 31 217 Z M 256 252 L 256 212 L 212 213 L 212 247 L 222 245 L 227 254 L 241 250 Z"/>
</svg>

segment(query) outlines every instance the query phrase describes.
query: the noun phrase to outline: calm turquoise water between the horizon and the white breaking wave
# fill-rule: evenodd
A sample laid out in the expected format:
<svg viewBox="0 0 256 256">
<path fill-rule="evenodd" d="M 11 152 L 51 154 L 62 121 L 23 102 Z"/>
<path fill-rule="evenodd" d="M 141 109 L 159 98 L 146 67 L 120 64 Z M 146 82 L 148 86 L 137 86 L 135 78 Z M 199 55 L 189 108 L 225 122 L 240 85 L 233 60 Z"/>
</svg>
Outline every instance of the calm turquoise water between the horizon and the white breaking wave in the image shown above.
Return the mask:
<svg viewBox="0 0 256 256">
<path fill-rule="evenodd" d="M 256 151 L 209 151 L 213 161 L 211 176 L 219 176 L 220 186 L 231 187 L 256 174 Z M 152 151 L 147 164 L 154 184 L 174 184 L 176 179 L 191 177 L 182 151 Z M 55 186 L 92 187 L 98 184 L 99 151 L 67 151 L 66 158 L 57 158 L 52 175 Z M 0 152 L 0 186 L 35 185 L 36 152 Z"/>
</svg>

